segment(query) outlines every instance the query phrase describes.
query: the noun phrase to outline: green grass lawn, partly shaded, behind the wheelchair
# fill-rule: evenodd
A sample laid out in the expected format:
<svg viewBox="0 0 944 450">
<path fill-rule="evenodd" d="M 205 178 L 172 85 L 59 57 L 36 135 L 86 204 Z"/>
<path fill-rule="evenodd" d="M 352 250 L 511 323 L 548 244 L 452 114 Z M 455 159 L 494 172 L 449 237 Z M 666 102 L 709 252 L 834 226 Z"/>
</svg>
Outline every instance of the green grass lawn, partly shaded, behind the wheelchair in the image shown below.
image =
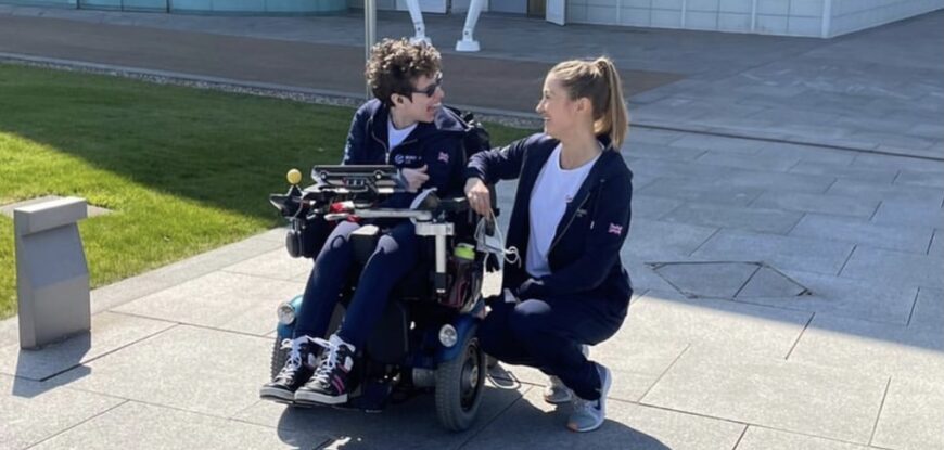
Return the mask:
<svg viewBox="0 0 944 450">
<path fill-rule="evenodd" d="M 336 164 L 350 108 L 0 65 L 0 204 L 75 195 L 92 286 L 283 223 L 291 167 Z M 530 131 L 487 125 L 496 144 Z M 0 318 L 16 310 L 13 221 L 0 216 Z"/>
</svg>

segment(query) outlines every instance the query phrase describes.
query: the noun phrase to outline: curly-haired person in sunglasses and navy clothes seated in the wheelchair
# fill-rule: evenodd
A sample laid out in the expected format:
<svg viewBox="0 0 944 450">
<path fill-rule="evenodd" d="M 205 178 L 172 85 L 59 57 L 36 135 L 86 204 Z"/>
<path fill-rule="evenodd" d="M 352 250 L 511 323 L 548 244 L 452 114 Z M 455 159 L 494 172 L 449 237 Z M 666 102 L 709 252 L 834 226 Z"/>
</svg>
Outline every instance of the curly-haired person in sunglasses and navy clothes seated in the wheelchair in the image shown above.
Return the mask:
<svg viewBox="0 0 944 450">
<path fill-rule="evenodd" d="M 438 51 L 406 39 L 384 39 L 372 49 L 366 77 L 374 99 L 355 113 L 343 165 L 393 165 L 408 193 L 383 206 L 408 208 L 416 193 L 462 195 L 468 126 L 447 107 Z M 362 268 L 340 329 L 329 336 L 332 312 L 355 270 L 352 233 L 366 224 L 340 221 L 315 258 L 296 316 L 291 353 L 260 397 L 304 403 L 340 404 L 348 399 L 355 355 L 374 329 L 391 290 L 417 263 L 419 239 L 408 219 L 377 219 L 386 230 Z M 319 357 L 320 353 L 320 357 Z"/>
</svg>

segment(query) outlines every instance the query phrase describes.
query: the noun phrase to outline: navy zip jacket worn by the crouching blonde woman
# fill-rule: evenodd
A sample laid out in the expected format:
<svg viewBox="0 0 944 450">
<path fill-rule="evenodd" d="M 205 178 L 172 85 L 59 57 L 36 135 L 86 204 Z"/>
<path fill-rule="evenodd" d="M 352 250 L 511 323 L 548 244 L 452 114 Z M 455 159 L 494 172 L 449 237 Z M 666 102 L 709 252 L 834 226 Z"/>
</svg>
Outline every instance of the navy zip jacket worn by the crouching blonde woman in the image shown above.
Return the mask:
<svg viewBox="0 0 944 450">
<path fill-rule="evenodd" d="M 533 279 L 523 267 L 530 237 L 532 190 L 559 141 L 544 133 L 472 156 L 467 177 L 486 183 L 519 179 L 506 245 L 518 248 L 519 263 L 505 265 L 502 287 L 519 298 L 597 297 L 626 301 L 633 288 L 620 260 L 629 231 L 633 172 L 609 139 L 557 228 L 548 252 L 551 274 Z"/>
</svg>

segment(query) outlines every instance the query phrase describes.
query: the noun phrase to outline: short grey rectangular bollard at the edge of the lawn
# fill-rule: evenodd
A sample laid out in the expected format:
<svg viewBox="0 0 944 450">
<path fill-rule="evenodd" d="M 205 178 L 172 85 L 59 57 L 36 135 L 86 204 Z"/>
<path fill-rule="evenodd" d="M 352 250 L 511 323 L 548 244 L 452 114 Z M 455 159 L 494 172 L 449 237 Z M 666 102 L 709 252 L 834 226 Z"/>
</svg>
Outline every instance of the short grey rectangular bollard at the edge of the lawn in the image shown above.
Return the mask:
<svg viewBox="0 0 944 450">
<path fill-rule="evenodd" d="M 78 222 L 85 198 L 13 210 L 20 347 L 35 349 L 91 329 L 89 269 Z"/>
</svg>

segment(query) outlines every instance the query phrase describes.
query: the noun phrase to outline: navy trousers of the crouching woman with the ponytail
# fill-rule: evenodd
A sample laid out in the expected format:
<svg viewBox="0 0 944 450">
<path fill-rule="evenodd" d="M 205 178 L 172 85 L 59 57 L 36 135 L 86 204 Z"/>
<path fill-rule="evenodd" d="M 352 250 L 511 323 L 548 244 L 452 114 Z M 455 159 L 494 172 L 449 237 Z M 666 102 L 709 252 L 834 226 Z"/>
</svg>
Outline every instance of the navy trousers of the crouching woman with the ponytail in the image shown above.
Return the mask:
<svg viewBox="0 0 944 450">
<path fill-rule="evenodd" d="M 626 301 L 550 297 L 492 304 L 479 327 L 486 353 L 511 364 L 530 365 L 556 375 L 586 400 L 600 398 L 597 367 L 581 352 L 616 333 L 626 317 Z"/>
</svg>

